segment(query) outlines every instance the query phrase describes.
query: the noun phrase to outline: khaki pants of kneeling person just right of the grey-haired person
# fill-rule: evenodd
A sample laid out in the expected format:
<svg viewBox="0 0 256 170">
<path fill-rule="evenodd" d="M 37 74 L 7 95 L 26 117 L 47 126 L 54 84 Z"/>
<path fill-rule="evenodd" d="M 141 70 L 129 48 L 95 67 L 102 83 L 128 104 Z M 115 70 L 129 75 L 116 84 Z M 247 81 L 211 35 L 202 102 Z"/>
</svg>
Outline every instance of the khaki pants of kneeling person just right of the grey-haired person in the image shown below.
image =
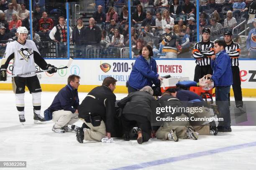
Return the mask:
<svg viewBox="0 0 256 170">
<path fill-rule="evenodd" d="M 179 117 L 184 118 L 187 116 L 182 114 Z M 176 131 L 177 137 L 185 138 L 189 122 L 188 121 L 180 121 L 179 125 L 177 125 L 177 124 L 178 124 L 177 121 L 164 122 L 164 124 L 157 130 L 156 138 L 161 139 L 161 140 L 167 140 L 168 134 L 170 133 L 171 130 Z"/>
</svg>

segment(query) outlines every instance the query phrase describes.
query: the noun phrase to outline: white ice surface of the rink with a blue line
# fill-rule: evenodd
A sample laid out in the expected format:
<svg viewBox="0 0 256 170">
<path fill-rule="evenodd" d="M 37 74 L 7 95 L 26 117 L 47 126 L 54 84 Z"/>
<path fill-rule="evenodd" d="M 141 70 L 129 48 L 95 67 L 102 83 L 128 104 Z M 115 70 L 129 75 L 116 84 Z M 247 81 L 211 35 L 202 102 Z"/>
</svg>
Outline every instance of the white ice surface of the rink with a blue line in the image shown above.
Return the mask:
<svg viewBox="0 0 256 170">
<path fill-rule="evenodd" d="M 42 92 L 45 110 L 57 92 Z M 80 102 L 87 93 L 79 93 Z M 125 94 L 116 94 L 120 100 Z M 256 98 L 244 97 L 243 100 Z M 233 100 L 233 99 L 231 99 Z M 179 142 L 114 139 L 78 143 L 75 133 L 51 131 L 53 122 L 33 123 L 32 96 L 25 93 L 26 125 L 21 125 L 12 91 L 0 91 L 0 161 L 27 161 L 27 168 L 0 170 L 255 170 L 256 126 L 233 126 L 231 133 L 200 135 Z M 82 122 L 76 123 L 82 125 Z"/>
</svg>

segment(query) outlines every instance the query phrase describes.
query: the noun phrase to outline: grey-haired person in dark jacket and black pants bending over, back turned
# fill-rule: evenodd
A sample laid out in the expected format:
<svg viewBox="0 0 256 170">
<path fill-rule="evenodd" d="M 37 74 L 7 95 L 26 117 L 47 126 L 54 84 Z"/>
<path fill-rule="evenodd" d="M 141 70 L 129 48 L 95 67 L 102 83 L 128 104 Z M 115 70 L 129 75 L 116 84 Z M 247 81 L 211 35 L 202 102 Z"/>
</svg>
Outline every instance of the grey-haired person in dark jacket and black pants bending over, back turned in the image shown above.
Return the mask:
<svg viewBox="0 0 256 170">
<path fill-rule="evenodd" d="M 125 140 L 130 140 L 129 132 L 132 125 L 138 125 L 138 144 L 147 142 L 151 136 L 151 101 L 154 101 L 153 90 L 150 86 L 140 91 L 132 92 L 117 104 L 123 108 L 122 125 Z"/>
</svg>

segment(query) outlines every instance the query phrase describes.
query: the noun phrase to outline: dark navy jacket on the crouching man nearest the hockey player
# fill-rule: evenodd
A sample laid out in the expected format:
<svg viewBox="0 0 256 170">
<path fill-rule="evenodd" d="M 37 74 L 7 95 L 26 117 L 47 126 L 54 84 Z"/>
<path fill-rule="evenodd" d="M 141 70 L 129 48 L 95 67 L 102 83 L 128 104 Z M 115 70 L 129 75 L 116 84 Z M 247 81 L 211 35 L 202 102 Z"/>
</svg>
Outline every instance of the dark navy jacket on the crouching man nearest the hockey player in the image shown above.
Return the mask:
<svg viewBox="0 0 256 170">
<path fill-rule="evenodd" d="M 54 101 L 49 108 L 53 112 L 57 110 L 68 110 L 74 113 L 78 106 L 79 98 L 77 89 L 73 89 L 71 85 L 66 85 L 54 97 Z"/>
</svg>

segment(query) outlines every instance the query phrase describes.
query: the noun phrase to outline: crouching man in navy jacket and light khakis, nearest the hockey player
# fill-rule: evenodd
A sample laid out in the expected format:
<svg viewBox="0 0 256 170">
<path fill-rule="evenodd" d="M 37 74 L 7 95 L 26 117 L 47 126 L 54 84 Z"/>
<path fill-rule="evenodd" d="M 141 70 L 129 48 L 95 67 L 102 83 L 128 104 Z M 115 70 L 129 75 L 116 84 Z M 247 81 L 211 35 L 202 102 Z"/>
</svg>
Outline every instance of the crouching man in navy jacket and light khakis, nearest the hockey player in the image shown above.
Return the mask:
<svg viewBox="0 0 256 170">
<path fill-rule="evenodd" d="M 80 77 L 78 75 L 69 75 L 68 84 L 63 87 L 54 97 L 49 109 L 52 111 L 52 120 L 55 124 L 52 131 L 55 133 L 64 133 L 72 131 L 68 125 L 77 122 L 79 98 L 78 86 Z"/>
</svg>

